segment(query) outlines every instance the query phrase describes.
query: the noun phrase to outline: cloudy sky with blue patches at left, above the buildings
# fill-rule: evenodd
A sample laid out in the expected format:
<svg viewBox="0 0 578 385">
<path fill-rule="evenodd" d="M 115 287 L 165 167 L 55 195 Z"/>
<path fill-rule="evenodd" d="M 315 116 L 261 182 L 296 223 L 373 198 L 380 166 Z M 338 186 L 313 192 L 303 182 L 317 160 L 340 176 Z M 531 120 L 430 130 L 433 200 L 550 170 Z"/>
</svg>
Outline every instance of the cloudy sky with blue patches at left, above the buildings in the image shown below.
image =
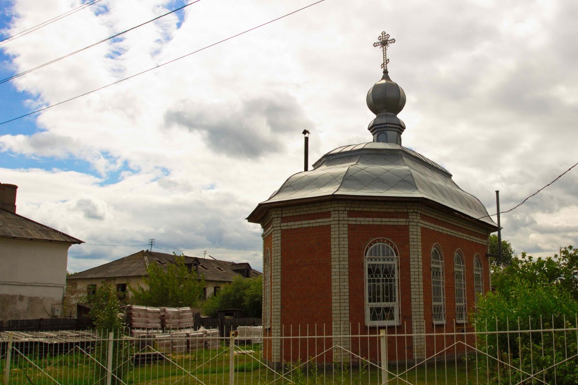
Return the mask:
<svg viewBox="0 0 578 385">
<path fill-rule="evenodd" d="M 102 0 L 0 42 L 0 79 L 53 61 L 184 0 Z M 248 261 L 247 215 L 326 152 L 372 140 L 365 96 L 381 78 L 405 91 L 405 147 L 427 156 L 495 214 L 578 162 L 578 3 L 572 0 L 201 0 L 0 84 L 0 182 L 17 213 L 83 240 L 68 271 L 147 248 Z M 2 39 L 81 5 L 0 0 Z M 517 253 L 578 246 L 578 167 L 515 210 Z M 495 217 L 494 217 L 495 218 Z"/>
</svg>

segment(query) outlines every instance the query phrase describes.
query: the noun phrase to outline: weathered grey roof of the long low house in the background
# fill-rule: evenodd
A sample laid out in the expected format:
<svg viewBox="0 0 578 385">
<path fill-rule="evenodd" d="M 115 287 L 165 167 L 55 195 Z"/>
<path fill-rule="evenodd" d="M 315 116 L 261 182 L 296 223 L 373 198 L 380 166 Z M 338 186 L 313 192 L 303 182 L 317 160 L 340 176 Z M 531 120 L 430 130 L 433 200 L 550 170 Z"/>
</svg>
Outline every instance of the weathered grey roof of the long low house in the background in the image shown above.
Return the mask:
<svg viewBox="0 0 578 385">
<path fill-rule="evenodd" d="M 71 274 L 66 277 L 66 279 L 105 279 L 119 276 L 146 276 L 147 263 L 158 263 L 166 269 L 166 266 L 169 266 L 169 264 L 176 264 L 177 257 L 178 256 L 172 254 L 141 250 L 137 253 L 105 263 L 101 266 Z M 229 261 L 190 256 L 184 256 L 184 262 L 185 264 L 198 266 L 198 274 L 202 275 L 205 278 L 205 281 L 232 282 L 235 276 L 239 274 L 239 265 L 242 264 L 246 264 L 246 267 L 250 269 L 250 278 L 261 275 L 261 272 L 253 270 L 249 263 L 239 264 Z"/>
</svg>

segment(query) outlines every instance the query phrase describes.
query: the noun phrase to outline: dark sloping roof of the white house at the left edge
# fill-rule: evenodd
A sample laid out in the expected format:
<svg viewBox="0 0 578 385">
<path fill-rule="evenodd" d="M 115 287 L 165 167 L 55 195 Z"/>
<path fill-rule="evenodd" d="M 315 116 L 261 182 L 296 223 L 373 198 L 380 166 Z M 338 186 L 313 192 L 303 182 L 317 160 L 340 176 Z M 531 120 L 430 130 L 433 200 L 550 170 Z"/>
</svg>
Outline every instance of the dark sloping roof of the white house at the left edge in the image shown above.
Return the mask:
<svg viewBox="0 0 578 385">
<path fill-rule="evenodd" d="M 81 244 L 84 241 L 0 208 L 0 237 Z"/>
</svg>

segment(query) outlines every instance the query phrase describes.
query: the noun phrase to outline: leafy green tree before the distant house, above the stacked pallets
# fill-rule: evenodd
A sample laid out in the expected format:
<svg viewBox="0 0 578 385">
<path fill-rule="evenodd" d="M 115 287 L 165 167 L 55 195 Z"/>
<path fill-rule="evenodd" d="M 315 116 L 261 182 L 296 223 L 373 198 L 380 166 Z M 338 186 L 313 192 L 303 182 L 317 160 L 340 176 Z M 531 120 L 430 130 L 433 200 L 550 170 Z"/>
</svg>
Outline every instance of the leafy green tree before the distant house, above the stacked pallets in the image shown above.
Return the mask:
<svg viewBox="0 0 578 385">
<path fill-rule="evenodd" d="M 195 307 L 203 294 L 205 280 L 198 279 L 195 271 L 189 271 L 183 256 L 176 257 L 176 264 L 168 264 L 166 270 L 158 263 L 147 267 L 149 276 L 143 278 L 148 286 L 129 287 L 132 302 L 143 306 Z"/>
</svg>

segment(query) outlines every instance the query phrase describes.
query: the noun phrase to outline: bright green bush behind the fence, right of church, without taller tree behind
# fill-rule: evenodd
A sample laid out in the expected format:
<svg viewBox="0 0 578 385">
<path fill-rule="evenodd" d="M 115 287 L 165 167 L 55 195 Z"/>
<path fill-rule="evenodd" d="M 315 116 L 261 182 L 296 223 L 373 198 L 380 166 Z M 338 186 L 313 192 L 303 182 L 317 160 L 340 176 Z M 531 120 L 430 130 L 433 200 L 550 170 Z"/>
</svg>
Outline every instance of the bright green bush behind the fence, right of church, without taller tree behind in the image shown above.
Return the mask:
<svg viewBox="0 0 578 385">
<path fill-rule="evenodd" d="M 491 357 L 480 361 L 481 367 L 489 369 L 491 383 L 498 383 L 498 379 L 503 383 L 508 377 L 518 383 L 527 377 L 522 371 L 544 371 L 540 379 L 546 383 L 578 383 L 576 358 L 553 368 L 554 362 L 566 359 L 566 352 L 577 351 L 578 341 L 576 331 L 553 329 L 575 328 L 577 314 L 578 302 L 560 283 L 544 284 L 518 277 L 501 291 L 479 298 L 472 317 L 476 331 L 482 333 L 478 334 L 477 347 Z M 540 332 L 542 329 L 550 331 Z"/>
</svg>

